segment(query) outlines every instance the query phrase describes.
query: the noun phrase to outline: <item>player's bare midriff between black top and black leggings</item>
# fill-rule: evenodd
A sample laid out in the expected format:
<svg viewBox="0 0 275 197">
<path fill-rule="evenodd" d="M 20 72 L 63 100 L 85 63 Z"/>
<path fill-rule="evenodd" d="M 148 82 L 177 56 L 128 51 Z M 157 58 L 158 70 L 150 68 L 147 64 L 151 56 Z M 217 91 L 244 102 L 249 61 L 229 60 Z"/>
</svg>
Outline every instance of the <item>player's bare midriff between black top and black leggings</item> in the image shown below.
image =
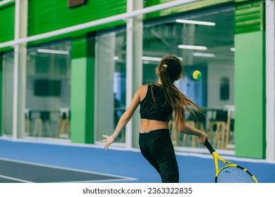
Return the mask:
<svg viewBox="0 0 275 197">
<path fill-rule="evenodd" d="M 150 132 L 157 129 L 169 129 L 169 123 L 159 120 L 141 119 L 140 132 Z"/>
</svg>

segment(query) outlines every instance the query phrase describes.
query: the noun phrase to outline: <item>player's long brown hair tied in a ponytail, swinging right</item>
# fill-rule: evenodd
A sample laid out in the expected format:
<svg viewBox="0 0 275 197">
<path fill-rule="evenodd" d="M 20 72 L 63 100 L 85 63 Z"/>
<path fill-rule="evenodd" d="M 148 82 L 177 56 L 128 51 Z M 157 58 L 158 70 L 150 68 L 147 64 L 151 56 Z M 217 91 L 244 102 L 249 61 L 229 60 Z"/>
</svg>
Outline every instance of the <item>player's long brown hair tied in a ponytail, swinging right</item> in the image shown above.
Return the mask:
<svg viewBox="0 0 275 197">
<path fill-rule="evenodd" d="M 195 115 L 195 112 L 202 113 L 202 109 L 197 106 L 187 96 L 181 93 L 173 84 L 183 72 L 183 65 L 176 56 L 164 56 L 159 66 L 157 74 L 164 87 L 164 95 L 166 102 L 173 108 L 175 114 L 176 125 L 185 125 L 185 112 L 188 110 L 190 114 Z"/>
</svg>

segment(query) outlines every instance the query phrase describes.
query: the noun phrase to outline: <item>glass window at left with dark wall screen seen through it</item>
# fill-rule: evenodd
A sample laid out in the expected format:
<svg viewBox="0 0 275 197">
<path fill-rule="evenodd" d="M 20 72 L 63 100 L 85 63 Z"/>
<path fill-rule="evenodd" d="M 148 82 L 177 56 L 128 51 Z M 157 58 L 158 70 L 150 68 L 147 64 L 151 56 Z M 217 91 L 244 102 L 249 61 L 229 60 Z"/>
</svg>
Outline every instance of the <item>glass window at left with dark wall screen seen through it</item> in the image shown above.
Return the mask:
<svg viewBox="0 0 275 197">
<path fill-rule="evenodd" d="M 27 49 L 26 136 L 68 138 L 71 42 Z"/>
</svg>

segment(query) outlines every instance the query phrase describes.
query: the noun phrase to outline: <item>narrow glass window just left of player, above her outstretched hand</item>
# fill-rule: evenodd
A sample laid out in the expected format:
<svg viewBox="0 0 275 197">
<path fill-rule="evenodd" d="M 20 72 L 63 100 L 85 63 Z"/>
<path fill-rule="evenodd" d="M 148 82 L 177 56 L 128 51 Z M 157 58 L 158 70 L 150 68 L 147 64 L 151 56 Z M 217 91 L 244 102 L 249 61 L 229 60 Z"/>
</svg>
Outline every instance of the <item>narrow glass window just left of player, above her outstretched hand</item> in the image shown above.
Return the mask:
<svg viewBox="0 0 275 197">
<path fill-rule="evenodd" d="M 112 134 L 126 109 L 126 31 L 97 37 L 96 140 Z M 112 98 L 112 99 L 111 99 Z M 116 142 L 125 142 L 125 130 Z"/>
</svg>

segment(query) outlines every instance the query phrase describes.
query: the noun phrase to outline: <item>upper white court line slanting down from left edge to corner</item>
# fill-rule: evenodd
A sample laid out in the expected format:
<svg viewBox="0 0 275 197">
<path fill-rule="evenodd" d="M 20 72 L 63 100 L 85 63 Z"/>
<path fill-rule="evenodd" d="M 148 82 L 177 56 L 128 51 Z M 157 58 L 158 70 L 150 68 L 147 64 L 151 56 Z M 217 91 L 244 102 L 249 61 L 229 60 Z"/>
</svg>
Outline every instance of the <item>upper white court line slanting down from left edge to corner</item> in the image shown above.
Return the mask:
<svg viewBox="0 0 275 197">
<path fill-rule="evenodd" d="M 118 175 L 114 175 L 114 174 L 106 174 L 106 173 L 93 172 L 93 171 L 88 171 L 88 170 L 78 170 L 78 169 L 73 169 L 73 168 L 69 168 L 69 167 L 59 167 L 59 166 L 55 166 L 55 165 L 45 165 L 45 164 L 41 164 L 41 163 L 31 163 L 31 162 L 22 161 L 22 160 L 13 160 L 13 159 L 8 159 L 8 158 L 0 158 L 0 160 L 13 162 L 13 163 L 22 163 L 22 164 L 27 164 L 27 165 L 37 165 L 37 166 L 41 166 L 41 167 L 50 167 L 50 168 L 54 168 L 54 169 L 58 169 L 58 170 L 69 170 L 69 171 L 73 171 L 73 172 L 83 172 L 83 173 L 87 173 L 87 174 L 97 174 L 97 175 L 102 175 L 102 176 L 115 177 L 115 178 L 118 178 L 120 181 L 137 180 L 133 177 L 123 177 L 123 176 L 118 176 Z M 94 182 L 103 182 L 103 181 L 104 180 L 94 180 Z"/>
</svg>

